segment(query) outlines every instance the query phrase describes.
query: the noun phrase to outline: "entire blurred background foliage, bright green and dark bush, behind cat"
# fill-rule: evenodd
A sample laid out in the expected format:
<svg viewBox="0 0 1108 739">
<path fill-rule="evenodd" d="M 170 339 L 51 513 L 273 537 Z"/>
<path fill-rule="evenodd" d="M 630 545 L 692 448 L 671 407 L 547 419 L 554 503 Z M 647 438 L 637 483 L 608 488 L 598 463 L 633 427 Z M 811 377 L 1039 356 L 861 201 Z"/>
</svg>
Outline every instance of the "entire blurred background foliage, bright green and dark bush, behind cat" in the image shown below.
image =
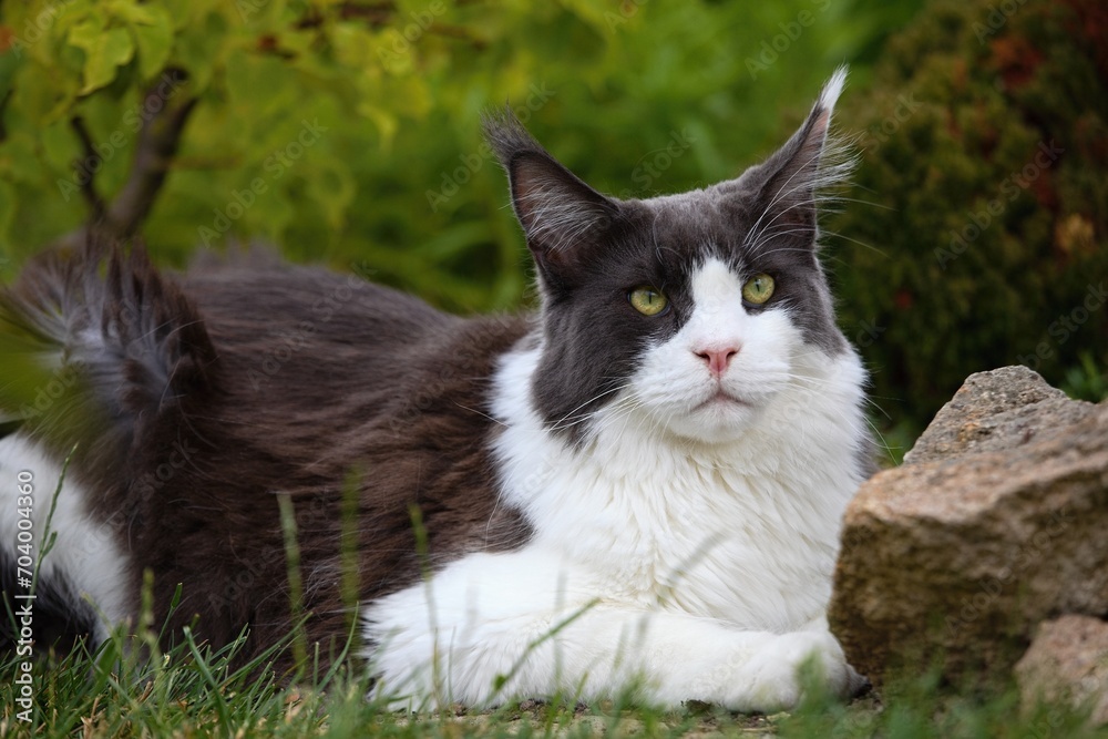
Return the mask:
<svg viewBox="0 0 1108 739">
<path fill-rule="evenodd" d="M 6 2 L 0 281 L 122 207 L 162 136 L 153 208 L 120 226 L 162 264 L 257 238 L 512 310 L 530 263 L 483 112 L 649 196 L 771 152 L 848 62 L 861 166 L 824 254 L 895 459 L 973 371 L 1105 394 L 1106 37 L 1101 0 Z"/>
</svg>

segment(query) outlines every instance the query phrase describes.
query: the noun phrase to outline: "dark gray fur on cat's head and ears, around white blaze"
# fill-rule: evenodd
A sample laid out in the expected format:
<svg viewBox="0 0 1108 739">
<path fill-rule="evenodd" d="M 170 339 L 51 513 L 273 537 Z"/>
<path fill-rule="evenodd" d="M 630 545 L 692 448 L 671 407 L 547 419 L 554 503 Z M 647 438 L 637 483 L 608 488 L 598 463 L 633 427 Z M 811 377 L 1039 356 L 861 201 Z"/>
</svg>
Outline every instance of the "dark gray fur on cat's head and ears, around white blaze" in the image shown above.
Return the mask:
<svg viewBox="0 0 1108 739">
<path fill-rule="evenodd" d="M 830 88 L 796 134 L 761 164 L 705 189 L 649 199 L 596 192 L 531 137 L 511 111 L 486 120 L 537 265 L 545 350 L 534 398 L 551 428 L 579 439 L 586 429 L 576 421 L 613 398 L 645 347 L 687 320 L 689 278 L 711 256 L 739 275 L 774 277 L 773 298 L 748 306 L 750 312 L 788 310 L 808 343 L 829 356 L 847 350 L 818 257 L 820 191 L 840 182 L 850 164 L 824 157 Z M 628 292 L 642 285 L 664 289 L 671 306 L 667 315 L 644 320 L 628 305 Z"/>
</svg>

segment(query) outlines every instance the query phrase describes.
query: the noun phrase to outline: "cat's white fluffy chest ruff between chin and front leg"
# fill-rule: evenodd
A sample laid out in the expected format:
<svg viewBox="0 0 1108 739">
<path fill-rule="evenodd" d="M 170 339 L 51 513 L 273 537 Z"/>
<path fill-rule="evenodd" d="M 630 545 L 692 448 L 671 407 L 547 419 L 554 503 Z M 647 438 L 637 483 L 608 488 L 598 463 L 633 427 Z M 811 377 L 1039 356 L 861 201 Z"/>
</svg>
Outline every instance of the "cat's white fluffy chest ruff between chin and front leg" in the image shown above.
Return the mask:
<svg viewBox="0 0 1108 739">
<path fill-rule="evenodd" d="M 505 374 L 529 363 L 517 355 Z M 842 510 L 860 483 L 853 434 L 824 428 L 841 427 L 841 403 L 821 408 L 810 394 L 782 393 L 755 433 L 722 447 L 648 432 L 616 403 L 611 423 L 597 419 L 612 432 L 573 449 L 505 392 L 503 496 L 561 576 L 605 598 L 796 628 L 825 606 Z"/>
</svg>

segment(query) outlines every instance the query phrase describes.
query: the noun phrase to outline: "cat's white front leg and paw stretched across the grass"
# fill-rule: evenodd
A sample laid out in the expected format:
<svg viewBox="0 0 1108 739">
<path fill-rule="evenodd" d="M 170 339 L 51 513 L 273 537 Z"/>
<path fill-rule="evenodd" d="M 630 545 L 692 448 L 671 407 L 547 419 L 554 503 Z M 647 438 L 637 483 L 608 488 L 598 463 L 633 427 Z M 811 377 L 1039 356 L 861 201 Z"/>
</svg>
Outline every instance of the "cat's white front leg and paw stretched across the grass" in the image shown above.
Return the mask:
<svg viewBox="0 0 1108 739">
<path fill-rule="evenodd" d="M 771 712 L 800 700 L 808 661 L 834 694 L 860 685 L 825 625 L 743 630 L 605 597 L 546 564 L 526 552 L 470 555 L 371 604 L 367 656 L 381 695 L 425 708 L 634 690 L 664 707 L 697 699 Z"/>
</svg>

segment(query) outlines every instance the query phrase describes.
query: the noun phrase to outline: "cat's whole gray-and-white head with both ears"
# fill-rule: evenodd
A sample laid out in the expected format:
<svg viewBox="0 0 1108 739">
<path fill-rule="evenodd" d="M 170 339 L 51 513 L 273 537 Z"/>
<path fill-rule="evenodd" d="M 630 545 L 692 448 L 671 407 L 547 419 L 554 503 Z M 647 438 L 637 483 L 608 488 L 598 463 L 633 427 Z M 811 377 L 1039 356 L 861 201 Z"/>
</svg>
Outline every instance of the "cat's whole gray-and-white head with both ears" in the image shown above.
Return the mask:
<svg viewBox="0 0 1108 739">
<path fill-rule="evenodd" d="M 736 179 L 620 201 L 562 166 L 511 115 L 486 133 L 511 183 L 542 294 L 533 401 L 581 438 L 612 403 L 680 437 L 727 441 L 787 387 L 798 363 L 852 351 L 817 256 L 828 127 L 845 70 L 804 124 Z"/>
</svg>

